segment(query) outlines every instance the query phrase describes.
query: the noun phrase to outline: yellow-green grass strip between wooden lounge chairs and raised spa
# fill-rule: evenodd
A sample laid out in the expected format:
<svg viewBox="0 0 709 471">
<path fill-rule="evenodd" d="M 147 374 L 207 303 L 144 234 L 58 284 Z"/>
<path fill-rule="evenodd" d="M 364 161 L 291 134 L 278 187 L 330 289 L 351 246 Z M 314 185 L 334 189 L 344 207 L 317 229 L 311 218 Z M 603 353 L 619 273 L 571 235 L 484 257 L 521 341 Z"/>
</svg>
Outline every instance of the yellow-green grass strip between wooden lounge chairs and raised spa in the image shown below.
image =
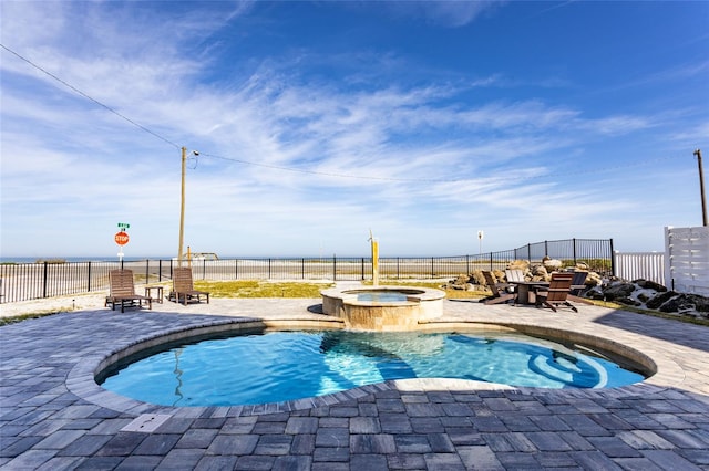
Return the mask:
<svg viewBox="0 0 709 471">
<path fill-rule="evenodd" d="M 335 283 L 244 281 L 195 281 L 195 290 L 214 297 L 320 297 Z"/>
</svg>

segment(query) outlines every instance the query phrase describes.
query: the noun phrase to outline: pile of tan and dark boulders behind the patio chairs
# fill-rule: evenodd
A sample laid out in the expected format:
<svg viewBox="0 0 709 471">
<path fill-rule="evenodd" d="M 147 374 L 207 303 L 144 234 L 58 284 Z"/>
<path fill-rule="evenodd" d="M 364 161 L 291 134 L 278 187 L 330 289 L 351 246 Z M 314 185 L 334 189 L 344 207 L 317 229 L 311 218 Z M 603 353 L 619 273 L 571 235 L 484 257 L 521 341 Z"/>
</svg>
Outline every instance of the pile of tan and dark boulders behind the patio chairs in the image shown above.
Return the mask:
<svg viewBox="0 0 709 471">
<path fill-rule="evenodd" d="M 526 260 L 515 260 L 507 265 L 507 270 L 521 270 L 525 280 L 528 281 L 549 281 L 551 273 L 554 271 L 586 271 L 588 275 L 585 282 L 586 289 L 580 293 L 583 297 L 709 320 L 709 297 L 707 296 L 677 293 L 648 280 L 604 279 L 598 273 L 589 271 L 585 263 L 565 268 L 561 260 L 548 258 L 538 264 L 531 264 Z M 497 281 L 506 281 L 504 271 L 493 270 L 492 273 Z M 475 270 L 471 274 L 459 275 L 442 287 L 473 291 L 484 286 L 486 283 L 482 271 Z"/>
</svg>

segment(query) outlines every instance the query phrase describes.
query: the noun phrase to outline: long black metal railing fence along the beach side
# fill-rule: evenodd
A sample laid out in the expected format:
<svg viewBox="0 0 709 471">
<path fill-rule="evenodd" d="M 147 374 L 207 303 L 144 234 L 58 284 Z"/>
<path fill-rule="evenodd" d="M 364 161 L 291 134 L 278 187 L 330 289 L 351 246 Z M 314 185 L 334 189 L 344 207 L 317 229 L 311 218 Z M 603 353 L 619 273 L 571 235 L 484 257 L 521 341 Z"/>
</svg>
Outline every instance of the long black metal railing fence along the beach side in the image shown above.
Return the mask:
<svg viewBox="0 0 709 471">
<path fill-rule="evenodd" d="M 470 274 L 477 270 L 504 270 L 514 260 L 538 263 L 544 257 L 565 266 L 578 262 L 590 270 L 614 273 L 613 239 L 568 239 L 528 243 L 517 249 L 460 257 L 380 258 L 382 280 L 435 280 Z M 133 270 L 136 285 L 172 280 L 174 260 L 41 262 L 0 264 L 1 302 L 105 291 L 109 272 Z M 185 262 L 183 262 L 185 263 Z M 370 280 L 371 258 L 267 258 L 193 260 L 195 280 Z"/>
</svg>

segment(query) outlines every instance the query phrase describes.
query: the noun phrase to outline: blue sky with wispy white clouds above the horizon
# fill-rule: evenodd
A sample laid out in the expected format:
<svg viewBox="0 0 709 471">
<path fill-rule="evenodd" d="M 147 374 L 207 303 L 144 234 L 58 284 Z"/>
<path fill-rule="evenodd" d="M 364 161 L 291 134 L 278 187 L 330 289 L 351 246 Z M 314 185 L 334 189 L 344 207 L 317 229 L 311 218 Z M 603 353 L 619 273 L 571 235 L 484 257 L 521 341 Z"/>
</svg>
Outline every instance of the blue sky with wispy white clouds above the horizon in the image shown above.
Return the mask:
<svg viewBox="0 0 709 471">
<path fill-rule="evenodd" d="M 709 2 L 7 1 L 8 257 L 462 255 L 701 226 Z M 31 64 L 30 64 L 31 62 Z M 709 168 L 705 174 L 709 174 Z"/>
</svg>

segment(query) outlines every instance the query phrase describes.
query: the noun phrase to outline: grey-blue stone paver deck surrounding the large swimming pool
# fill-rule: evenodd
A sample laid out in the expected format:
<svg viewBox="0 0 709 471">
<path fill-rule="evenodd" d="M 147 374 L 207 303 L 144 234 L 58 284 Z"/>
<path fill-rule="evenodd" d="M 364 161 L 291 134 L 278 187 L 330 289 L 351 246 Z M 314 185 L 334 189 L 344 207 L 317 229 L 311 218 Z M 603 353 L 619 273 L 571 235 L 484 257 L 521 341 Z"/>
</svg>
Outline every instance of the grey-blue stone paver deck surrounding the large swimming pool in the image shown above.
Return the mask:
<svg viewBox="0 0 709 471">
<path fill-rule="evenodd" d="M 215 299 L 121 314 L 97 304 L 0 327 L 0 468 L 709 470 L 709 328 L 584 304 L 553 313 L 445 301 L 443 320 L 592 334 L 641 350 L 658 374 L 605 390 L 414 379 L 203 408 L 137 402 L 93 381 L 106 355 L 137 339 L 259 320 L 332 322 L 319 305 Z"/>
</svg>

